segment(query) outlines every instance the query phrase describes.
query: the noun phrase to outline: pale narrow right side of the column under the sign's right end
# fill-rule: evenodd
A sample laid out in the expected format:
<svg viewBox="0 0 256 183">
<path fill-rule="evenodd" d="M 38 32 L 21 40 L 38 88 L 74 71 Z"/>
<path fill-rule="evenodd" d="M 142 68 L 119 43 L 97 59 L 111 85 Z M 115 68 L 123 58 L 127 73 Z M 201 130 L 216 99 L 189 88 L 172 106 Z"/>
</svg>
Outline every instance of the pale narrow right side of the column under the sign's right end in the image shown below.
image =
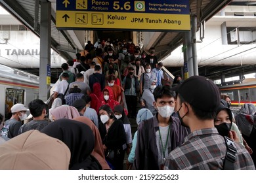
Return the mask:
<svg viewBox="0 0 256 183">
<path fill-rule="evenodd" d="M 192 56 L 193 56 L 193 71 L 194 75 L 198 76 L 198 50 L 196 49 L 196 15 L 192 16 L 191 21 L 191 48 L 192 48 Z"/>
</svg>

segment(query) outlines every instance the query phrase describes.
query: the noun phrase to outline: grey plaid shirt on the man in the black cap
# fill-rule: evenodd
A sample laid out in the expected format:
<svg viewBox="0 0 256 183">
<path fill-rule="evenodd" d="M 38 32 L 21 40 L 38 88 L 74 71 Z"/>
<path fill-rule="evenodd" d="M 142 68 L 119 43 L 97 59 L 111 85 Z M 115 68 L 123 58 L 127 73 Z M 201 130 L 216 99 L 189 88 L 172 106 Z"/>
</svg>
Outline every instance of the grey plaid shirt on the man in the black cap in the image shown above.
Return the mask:
<svg viewBox="0 0 256 183">
<path fill-rule="evenodd" d="M 234 169 L 255 169 L 247 150 L 235 144 L 237 153 Z M 190 133 L 185 142 L 169 154 L 165 169 L 223 169 L 225 156 L 226 143 L 217 129 L 200 129 Z"/>
</svg>

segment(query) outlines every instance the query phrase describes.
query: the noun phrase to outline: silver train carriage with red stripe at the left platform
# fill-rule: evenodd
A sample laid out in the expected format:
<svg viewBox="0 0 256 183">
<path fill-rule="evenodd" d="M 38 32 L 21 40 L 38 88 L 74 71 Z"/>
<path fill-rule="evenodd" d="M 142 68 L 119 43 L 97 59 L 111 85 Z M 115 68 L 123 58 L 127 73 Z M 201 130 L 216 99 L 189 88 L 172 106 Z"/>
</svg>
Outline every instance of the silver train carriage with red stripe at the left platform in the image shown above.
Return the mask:
<svg viewBox="0 0 256 183">
<path fill-rule="evenodd" d="M 0 113 L 11 117 L 11 107 L 16 103 L 28 103 L 39 98 L 39 76 L 0 65 Z"/>
</svg>

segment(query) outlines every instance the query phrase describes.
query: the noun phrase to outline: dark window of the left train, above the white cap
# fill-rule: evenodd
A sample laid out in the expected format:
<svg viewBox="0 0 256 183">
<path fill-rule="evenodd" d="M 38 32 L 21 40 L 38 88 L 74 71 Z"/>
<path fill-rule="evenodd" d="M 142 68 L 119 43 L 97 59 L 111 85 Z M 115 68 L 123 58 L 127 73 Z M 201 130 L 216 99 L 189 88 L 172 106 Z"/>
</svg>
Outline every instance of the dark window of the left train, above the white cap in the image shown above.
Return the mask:
<svg viewBox="0 0 256 183">
<path fill-rule="evenodd" d="M 24 90 L 7 88 L 5 90 L 5 118 L 11 118 L 11 107 L 16 103 L 24 103 Z"/>
</svg>

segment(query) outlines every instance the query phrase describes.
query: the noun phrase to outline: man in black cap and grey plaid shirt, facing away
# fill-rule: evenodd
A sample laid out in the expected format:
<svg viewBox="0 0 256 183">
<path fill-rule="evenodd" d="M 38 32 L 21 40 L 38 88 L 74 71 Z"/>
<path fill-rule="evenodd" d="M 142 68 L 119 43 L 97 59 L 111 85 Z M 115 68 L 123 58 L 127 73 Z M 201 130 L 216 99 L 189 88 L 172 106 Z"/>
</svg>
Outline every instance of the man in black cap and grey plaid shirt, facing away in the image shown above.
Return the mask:
<svg viewBox="0 0 256 183">
<path fill-rule="evenodd" d="M 223 169 L 226 143 L 214 127 L 215 109 L 221 103 L 219 88 L 208 78 L 192 76 L 173 88 L 178 92 L 177 110 L 182 125 L 191 133 L 171 151 L 164 169 Z M 234 169 L 255 169 L 247 150 L 234 142 Z"/>
</svg>

